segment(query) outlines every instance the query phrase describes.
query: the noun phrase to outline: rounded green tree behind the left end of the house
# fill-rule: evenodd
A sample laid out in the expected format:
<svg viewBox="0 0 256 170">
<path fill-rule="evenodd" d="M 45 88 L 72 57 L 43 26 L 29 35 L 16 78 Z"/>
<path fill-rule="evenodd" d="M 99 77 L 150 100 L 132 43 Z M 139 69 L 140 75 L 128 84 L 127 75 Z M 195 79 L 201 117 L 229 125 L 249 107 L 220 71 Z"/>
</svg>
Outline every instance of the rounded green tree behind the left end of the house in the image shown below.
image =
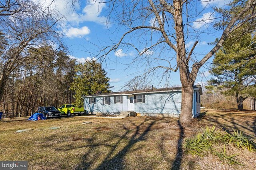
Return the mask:
<svg viewBox="0 0 256 170">
<path fill-rule="evenodd" d="M 95 94 L 97 91 L 108 93 L 110 87 L 107 72 L 96 61 L 86 61 L 75 66 L 76 75 L 70 89 L 75 92 L 76 106 L 83 106 L 82 96 Z"/>
</svg>

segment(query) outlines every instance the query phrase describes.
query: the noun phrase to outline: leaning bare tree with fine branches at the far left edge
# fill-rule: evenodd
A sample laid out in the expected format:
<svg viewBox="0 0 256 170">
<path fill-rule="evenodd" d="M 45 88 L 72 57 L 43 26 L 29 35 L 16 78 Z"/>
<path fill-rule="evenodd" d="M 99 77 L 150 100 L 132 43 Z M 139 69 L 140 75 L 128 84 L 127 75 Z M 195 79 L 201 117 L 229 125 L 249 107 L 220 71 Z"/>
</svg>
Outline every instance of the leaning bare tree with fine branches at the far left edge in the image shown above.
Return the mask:
<svg viewBox="0 0 256 170">
<path fill-rule="evenodd" d="M 27 61 L 44 61 L 43 55 L 29 55 L 28 50 L 44 45 L 60 45 L 60 19 L 54 11 L 34 0 L 4 0 L 0 3 L 0 32 L 7 45 L 0 55 L 0 102 L 10 74 Z M 41 58 L 38 58 L 41 57 Z"/>
</svg>

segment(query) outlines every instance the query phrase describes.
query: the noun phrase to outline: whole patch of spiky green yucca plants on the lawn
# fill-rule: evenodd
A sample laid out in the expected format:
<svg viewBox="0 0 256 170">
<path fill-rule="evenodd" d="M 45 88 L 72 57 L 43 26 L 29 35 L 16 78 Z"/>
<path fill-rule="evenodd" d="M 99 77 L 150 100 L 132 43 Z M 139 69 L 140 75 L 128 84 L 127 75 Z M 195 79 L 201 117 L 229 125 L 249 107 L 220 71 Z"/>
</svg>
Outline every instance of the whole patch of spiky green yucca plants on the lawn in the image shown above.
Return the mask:
<svg viewBox="0 0 256 170">
<path fill-rule="evenodd" d="M 238 160 L 235 159 L 236 154 L 228 155 L 226 154 L 225 144 L 230 145 L 234 143 L 238 148 L 248 149 L 249 151 L 256 151 L 255 144 L 250 141 L 250 139 L 243 135 L 243 131 L 238 133 L 238 130 L 234 130 L 234 133 L 229 134 L 225 131 L 222 132 L 221 129 L 216 130 L 216 126 L 208 127 L 206 125 L 205 129 L 202 130 L 203 133 L 198 133 L 196 137 L 186 139 L 183 147 L 185 153 L 196 154 L 198 156 L 204 156 L 208 151 L 212 154 L 218 156 L 221 161 L 227 162 L 228 164 L 238 164 L 242 165 Z M 223 150 L 218 152 L 214 149 L 216 144 L 223 145 Z"/>
</svg>

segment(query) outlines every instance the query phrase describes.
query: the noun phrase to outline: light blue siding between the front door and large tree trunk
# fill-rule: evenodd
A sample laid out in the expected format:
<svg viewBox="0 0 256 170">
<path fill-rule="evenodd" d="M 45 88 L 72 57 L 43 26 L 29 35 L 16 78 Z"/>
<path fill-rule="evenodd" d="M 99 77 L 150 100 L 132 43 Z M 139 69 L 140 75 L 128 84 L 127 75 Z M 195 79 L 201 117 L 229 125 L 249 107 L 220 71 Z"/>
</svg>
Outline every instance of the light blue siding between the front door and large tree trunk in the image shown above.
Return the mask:
<svg viewBox="0 0 256 170">
<path fill-rule="evenodd" d="M 180 114 L 181 92 L 146 94 L 145 103 L 135 104 L 138 113 Z"/>
</svg>

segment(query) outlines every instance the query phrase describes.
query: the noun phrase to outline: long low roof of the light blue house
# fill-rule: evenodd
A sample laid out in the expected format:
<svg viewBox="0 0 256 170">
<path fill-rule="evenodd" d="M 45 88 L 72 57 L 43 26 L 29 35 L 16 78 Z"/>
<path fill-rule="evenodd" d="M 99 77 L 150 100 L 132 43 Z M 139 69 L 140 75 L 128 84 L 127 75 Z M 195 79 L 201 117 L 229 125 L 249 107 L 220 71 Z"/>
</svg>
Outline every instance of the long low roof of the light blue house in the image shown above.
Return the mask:
<svg viewBox="0 0 256 170">
<path fill-rule="evenodd" d="M 193 86 L 194 89 L 198 89 L 202 95 L 202 88 L 200 85 Z M 171 87 L 171 88 L 158 88 L 158 89 L 147 89 L 147 90 L 134 90 L 134 91 L 124 91 L 124 92 L 110 92 L 110 93 L 98 93 L 91 94 L 87 96 L 82 96 L 82 98 L 88 97 L 100 97 L 100 96 L 116 96 L 116 95 L 133 95 L 133 94 L 148 94 L 148 93 L 160 93 L 160 92 L 175 92 L 181 91 L 181 87 Z"/>
</svg>

